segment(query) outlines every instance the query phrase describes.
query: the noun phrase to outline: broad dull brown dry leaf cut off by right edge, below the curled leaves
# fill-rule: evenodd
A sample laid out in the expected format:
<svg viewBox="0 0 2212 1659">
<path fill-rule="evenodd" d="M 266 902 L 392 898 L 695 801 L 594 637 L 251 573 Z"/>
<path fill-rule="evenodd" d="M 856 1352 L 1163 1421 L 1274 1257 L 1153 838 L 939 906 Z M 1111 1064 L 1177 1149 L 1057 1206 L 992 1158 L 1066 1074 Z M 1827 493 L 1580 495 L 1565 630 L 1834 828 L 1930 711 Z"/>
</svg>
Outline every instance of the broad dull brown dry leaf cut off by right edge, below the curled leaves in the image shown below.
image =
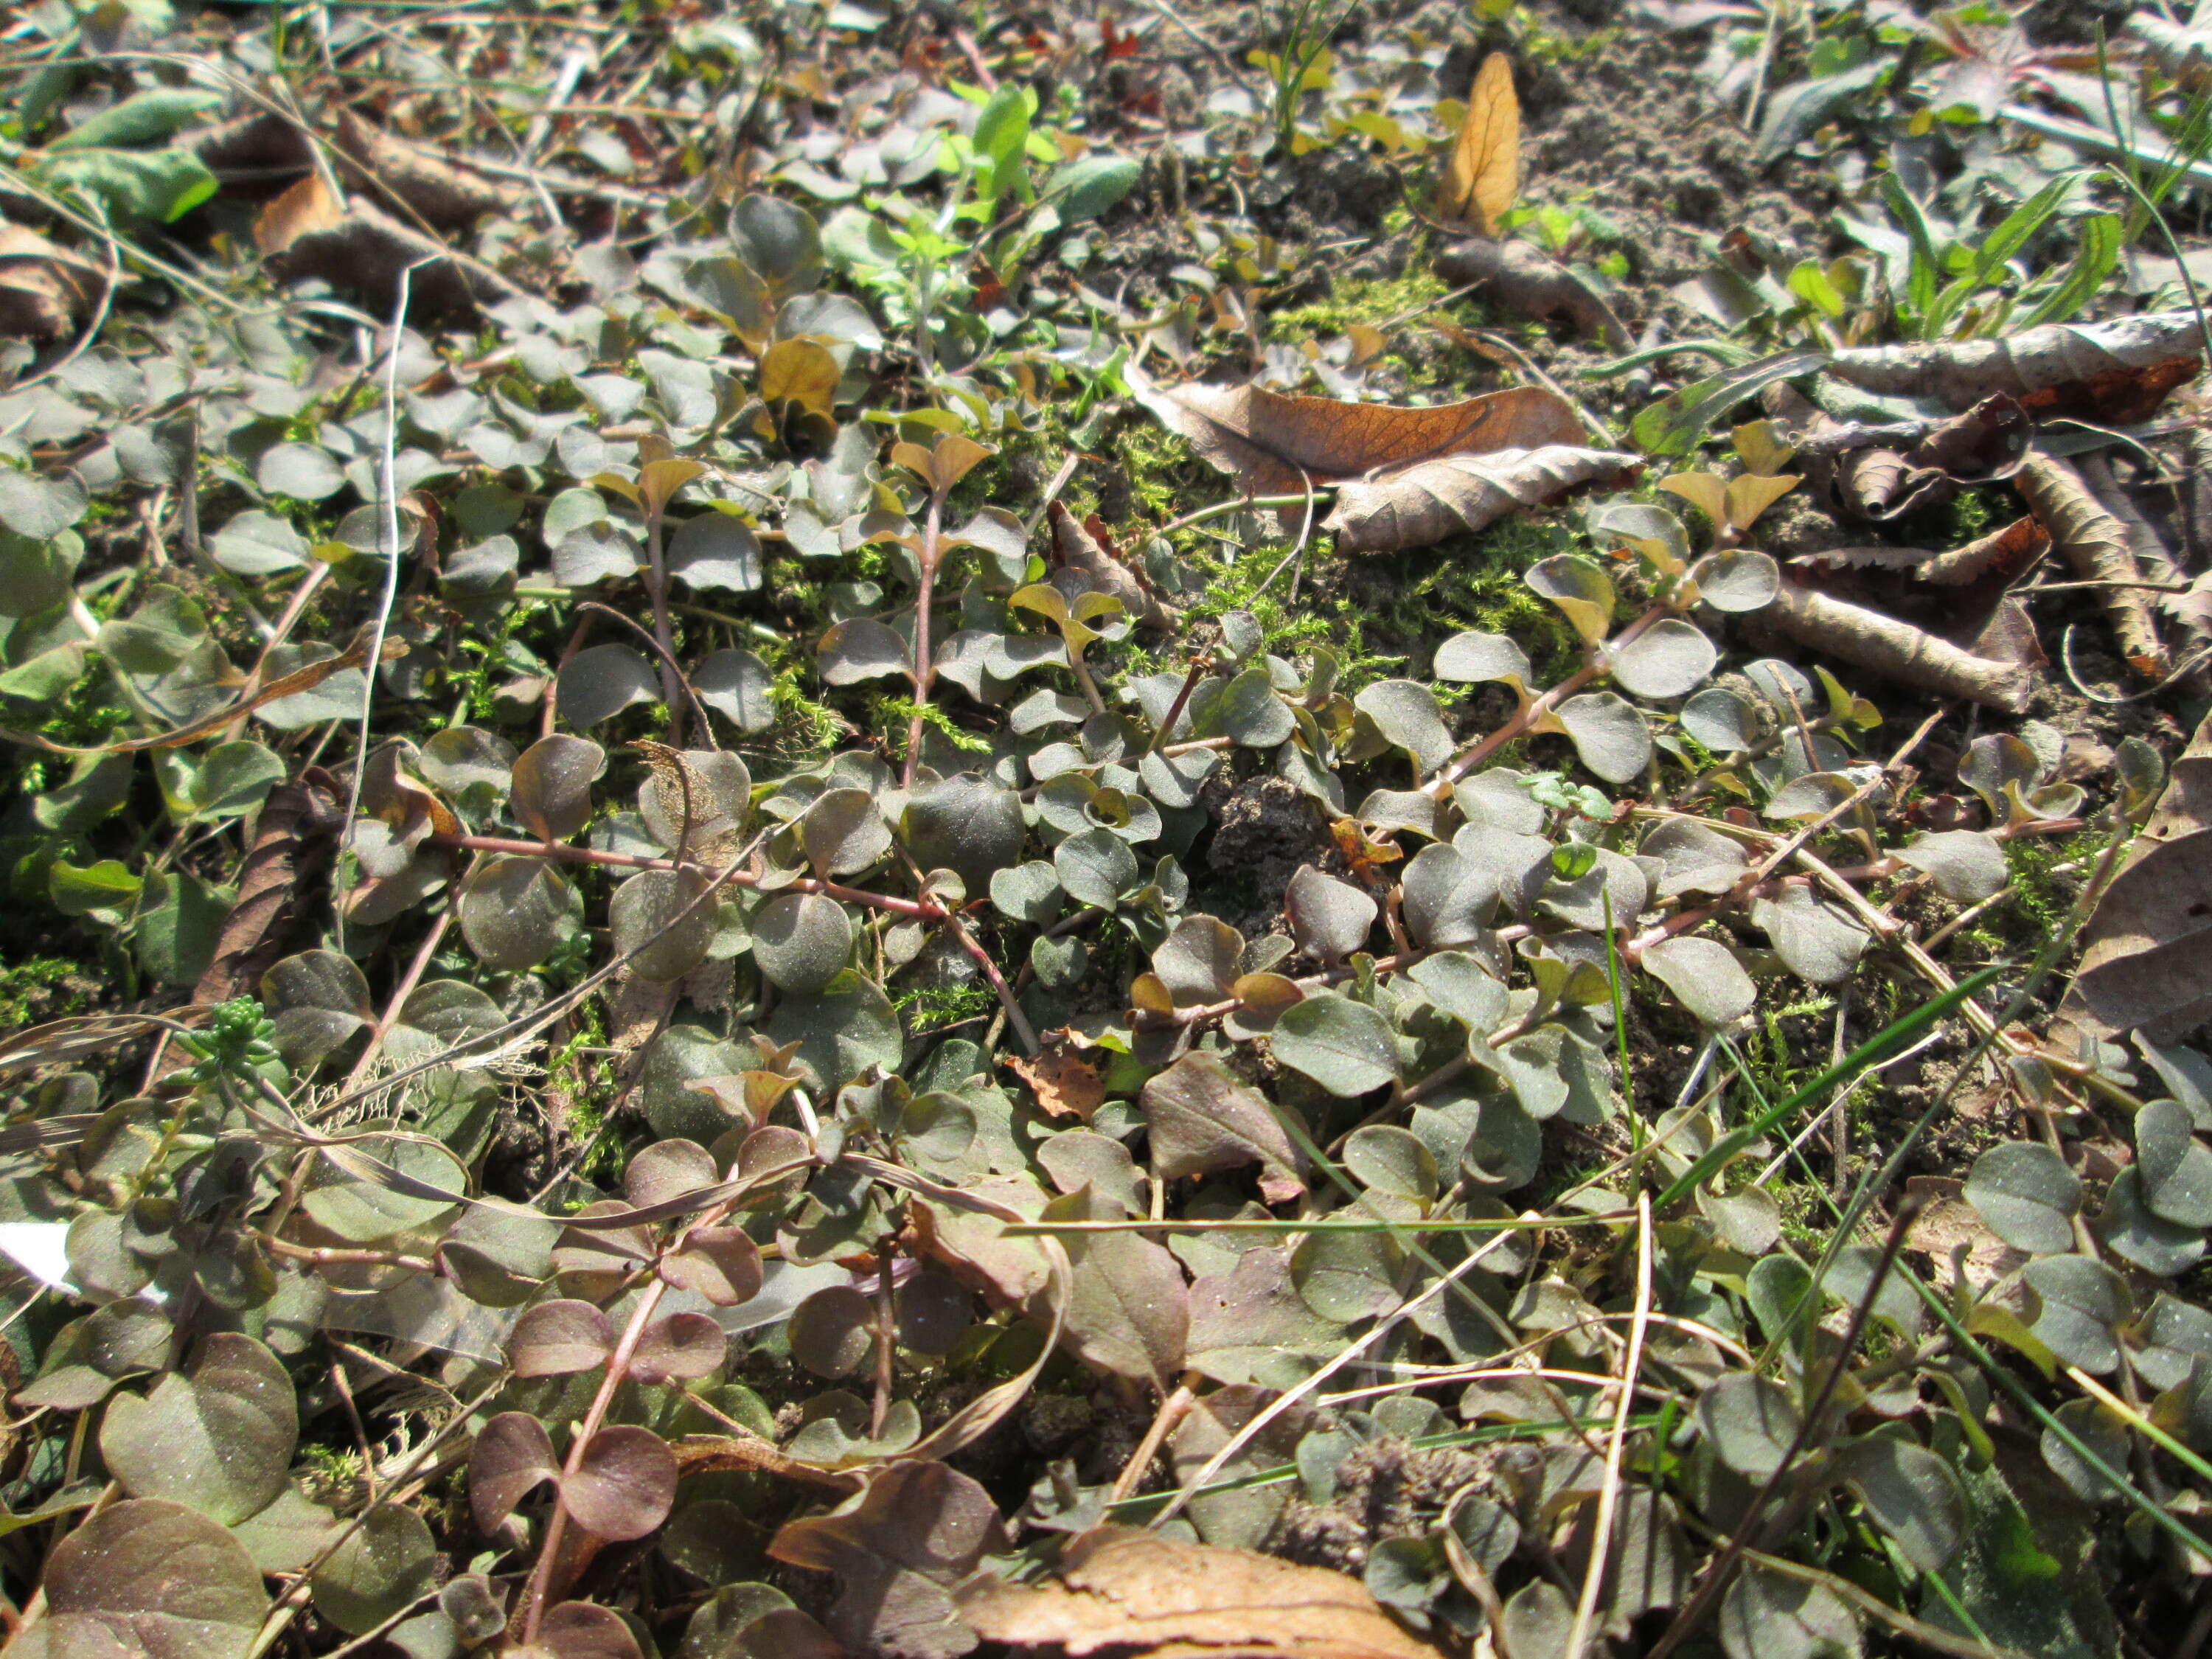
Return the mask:
<svg viewBox="0 0 2212 1659">
<path fill-rule="evenodd" d="M 2212 1020 L 2212 714 L 2174 761 L 2150 823 L 2081 929 L 2057 1024 L 2177 1042 Z"/>
</svg>

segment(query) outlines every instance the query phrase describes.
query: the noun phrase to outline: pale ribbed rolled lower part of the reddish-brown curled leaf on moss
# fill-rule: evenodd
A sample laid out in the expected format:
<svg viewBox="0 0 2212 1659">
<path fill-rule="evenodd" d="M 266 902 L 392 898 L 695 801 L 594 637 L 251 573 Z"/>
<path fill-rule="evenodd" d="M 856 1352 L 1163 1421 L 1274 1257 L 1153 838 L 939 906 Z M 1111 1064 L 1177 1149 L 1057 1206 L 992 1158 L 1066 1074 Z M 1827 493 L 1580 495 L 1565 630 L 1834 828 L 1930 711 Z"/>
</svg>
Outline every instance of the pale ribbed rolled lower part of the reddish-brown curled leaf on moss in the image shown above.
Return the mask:
<svg viewBox="0 0 2212 1659">
<path fill-rule="evenodd" d="M 1632 478 L 1639 458 L 1619 449 L 1544 445 L 1489 456 L 1447 456 L 1336 491 L 1323 529 L 1345 553 L 1429 546 L 1458 531 L 1480 531 L 1513 509 L 1544 507 L 1582 484 Z"/>
</svg>

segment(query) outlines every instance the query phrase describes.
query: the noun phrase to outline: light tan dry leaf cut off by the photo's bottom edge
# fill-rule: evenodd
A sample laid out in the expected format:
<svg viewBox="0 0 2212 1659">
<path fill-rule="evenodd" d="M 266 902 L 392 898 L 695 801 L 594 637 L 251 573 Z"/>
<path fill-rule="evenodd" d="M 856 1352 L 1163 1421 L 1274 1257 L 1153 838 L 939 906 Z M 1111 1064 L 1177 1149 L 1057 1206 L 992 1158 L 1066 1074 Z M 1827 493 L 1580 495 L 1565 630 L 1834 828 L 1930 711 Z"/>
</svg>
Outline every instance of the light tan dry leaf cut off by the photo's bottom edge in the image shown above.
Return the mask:
<svg viewBox="0 0 2212 1659">
<path fill-rule="evenodd" d="M 971 1579 L 960 1617 L 1011 1648 L 1152 1659 L 1436 1659 L 1358 1579 L 1270 1555 L 1097 1526 L 1033 1588 Z"/>
</svg>

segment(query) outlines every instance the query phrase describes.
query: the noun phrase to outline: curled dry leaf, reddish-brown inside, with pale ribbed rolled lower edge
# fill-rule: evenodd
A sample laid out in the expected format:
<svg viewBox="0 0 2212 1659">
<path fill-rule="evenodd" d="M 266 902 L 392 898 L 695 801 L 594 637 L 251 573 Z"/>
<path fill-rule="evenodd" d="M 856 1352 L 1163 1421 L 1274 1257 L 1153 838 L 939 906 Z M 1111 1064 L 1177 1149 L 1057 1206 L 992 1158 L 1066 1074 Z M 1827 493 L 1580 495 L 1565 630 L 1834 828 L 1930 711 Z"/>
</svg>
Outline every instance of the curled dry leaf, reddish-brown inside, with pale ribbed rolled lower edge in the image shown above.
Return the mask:
<svg viewBox="0 0 2212 1659">
<path fill-rule="evenodd" d="M 1422 546 L 1482 529 L 1575 484 L 1621 478 L 1635 456 L 1582 449 L 1555 392 L 1513 387 L 1433 409 L 1290 398 L 1261 387 L 1161 387 L 1124 372 L 1137 400 L 1252 495 L 1338 484 L 1327 529 L 1345 551 Z M 1484 458 L 1484 465 L 1469 465 Z"/>
</svg>

